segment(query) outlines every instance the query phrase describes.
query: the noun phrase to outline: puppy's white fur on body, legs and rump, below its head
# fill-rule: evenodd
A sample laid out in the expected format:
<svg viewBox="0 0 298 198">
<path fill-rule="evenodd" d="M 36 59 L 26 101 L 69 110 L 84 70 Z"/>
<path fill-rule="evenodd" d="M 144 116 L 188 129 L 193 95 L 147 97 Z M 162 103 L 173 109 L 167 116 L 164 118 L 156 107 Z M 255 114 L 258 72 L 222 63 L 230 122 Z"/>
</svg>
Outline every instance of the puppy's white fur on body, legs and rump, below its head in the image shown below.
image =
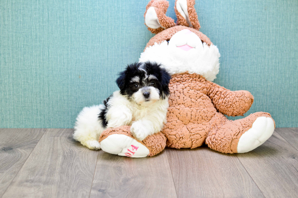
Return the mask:
<svg viewBox="0 0 298 198">
<path fill-rule="evenodd" d="M 161 131 L 166 122 L 168 98 L 159 99 L 158 97 L 156 99 L 154 92 L 156 92 L 155 89 L 151 91 L 150 95 L 154 97 L 153 101 L 155 102 L 150 100 L 143 102 L 142 105 L 127 99 L 125 95 L 120 94 L 120 91 L 114 92 L 107 103 L 109 105 L 106 114 L 107 127 L 131 125 L 131 133 L 139 140 Z M 102 127 L 98 115 L 103 107 L 103 105 L 85 107 L 75 123 L 74 139 L 90 149 L 100 148 L 98 139 L 105 128 Z"/>
</svg>

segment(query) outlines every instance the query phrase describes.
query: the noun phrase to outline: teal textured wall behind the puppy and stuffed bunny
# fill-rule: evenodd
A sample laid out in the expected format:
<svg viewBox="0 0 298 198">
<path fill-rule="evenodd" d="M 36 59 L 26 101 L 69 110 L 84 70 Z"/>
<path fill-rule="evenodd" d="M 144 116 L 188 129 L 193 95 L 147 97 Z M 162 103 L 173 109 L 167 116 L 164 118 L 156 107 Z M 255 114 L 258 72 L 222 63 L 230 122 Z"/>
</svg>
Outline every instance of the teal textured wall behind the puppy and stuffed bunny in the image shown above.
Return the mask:
<svg viewBox="0 0 298 198">
<path fill-rule="evenodd" d="M 116 74 L 153 36 L 147 2 L 1 0 L 0 127 L 72 128 L 84 106 L 117 90 Z M 176 20 L 174 3 L 167 15 Z M 197 0 L 195 8 L 221 53 L 215 82 L 254 95 L 246 115 L 265 111 L 277 127 L 298 127 L 298 1 Z"/>
</svg>

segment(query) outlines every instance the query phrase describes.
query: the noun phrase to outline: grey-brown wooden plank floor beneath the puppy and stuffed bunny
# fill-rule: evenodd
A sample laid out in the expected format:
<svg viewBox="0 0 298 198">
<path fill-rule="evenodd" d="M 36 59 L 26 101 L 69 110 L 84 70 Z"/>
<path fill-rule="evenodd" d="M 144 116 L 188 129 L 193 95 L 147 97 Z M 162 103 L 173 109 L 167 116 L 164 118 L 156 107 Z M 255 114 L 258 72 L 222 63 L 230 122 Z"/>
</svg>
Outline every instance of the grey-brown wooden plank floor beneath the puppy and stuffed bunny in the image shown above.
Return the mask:
<svg viewBox="0 0 298 198">
<path fill-rule="evenodd" d="M 223 154 L 206 146 L 129 158 L 90 150 L 73 129 L 0 129 L 0 197 L 298 197 L 298 128 Z"/>
</svg>

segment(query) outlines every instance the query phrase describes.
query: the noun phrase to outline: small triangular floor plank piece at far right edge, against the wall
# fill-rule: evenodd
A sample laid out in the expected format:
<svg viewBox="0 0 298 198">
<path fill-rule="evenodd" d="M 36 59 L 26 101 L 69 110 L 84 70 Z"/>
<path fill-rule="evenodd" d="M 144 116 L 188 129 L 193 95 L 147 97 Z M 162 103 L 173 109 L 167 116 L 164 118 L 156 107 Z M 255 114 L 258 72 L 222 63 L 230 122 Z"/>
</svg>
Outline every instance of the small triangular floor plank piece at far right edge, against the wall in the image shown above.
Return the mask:
<svg viewBox="0 0 298 198">
<path fill-rule="evenodd" d="M 277 128 L 275 132 L 298 150 L 298 128 Z"/>
</svg>

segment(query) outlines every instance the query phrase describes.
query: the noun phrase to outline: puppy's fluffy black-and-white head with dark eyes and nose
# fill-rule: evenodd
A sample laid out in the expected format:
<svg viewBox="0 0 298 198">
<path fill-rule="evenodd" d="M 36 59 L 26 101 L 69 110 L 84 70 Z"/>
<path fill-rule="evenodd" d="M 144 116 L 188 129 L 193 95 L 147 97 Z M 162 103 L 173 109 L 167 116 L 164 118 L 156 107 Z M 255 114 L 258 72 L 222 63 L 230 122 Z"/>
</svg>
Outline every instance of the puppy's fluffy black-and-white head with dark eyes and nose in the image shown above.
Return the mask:
<svg viewBox="0 0 298 198">
<path fill-rule="evenodd" d="M 155 62 L 138 62 L 128 65 L 116 80 L 120 93 L 137 104 L 149 106 L 166 99 L 170 90 L 171 76 Z"/>
</svg>

